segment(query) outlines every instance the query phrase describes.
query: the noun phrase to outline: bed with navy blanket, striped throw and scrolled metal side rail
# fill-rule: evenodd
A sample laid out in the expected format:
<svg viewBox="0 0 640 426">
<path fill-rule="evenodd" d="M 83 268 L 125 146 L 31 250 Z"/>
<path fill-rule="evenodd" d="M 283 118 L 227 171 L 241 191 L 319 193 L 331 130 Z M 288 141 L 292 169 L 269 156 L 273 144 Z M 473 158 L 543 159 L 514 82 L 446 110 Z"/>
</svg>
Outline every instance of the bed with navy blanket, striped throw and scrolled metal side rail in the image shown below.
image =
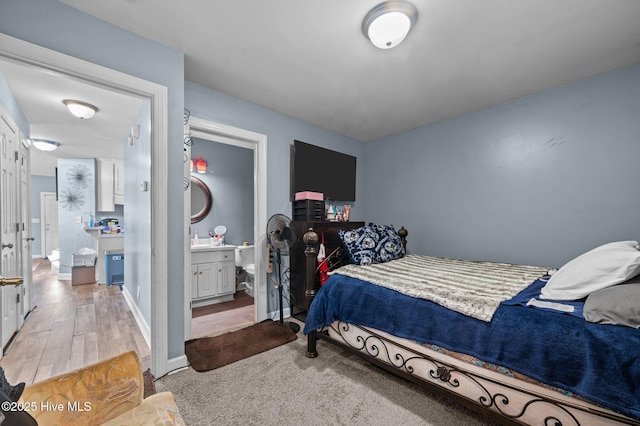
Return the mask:
<svg viewBox="0 0 640 426">
<path fill-rule="evenodd" d="M 318 356 L 317 339 L 329 341 L 506 424 L 640 425 L 639 328 L 586 321 L 585 298 L 558 302 L 541 297 L 550 280 L 548 268 L 404 256 L 406 235 L 404 228 L 397 231 L 401 257 L 344 266 L 322 287 L 316 277 L 319 237 L 312 230 L 304 235 L 307 357 Z M 636 248 L 622 250 L 640 258 Z M 416 262 L 418 269 L 412 269 Z M 593 259 L 582 262 L 592 264 Z M 637 270 L 624 273 L 640 271 L 636 263 Z M 502 271 L 511 266 L 515 270 Z M 471 272 L 465 272 L 467 267 Z M 442 298 L 440 303 L 414 294 L 412 280 L 440 281 L 447 269 L 455 273 L 434 296 Z M 573 280 L 565 271 L 561 268 L 557 277 Z M 506 285 L 510 288 L 497 303 L 492 295 L 485 300 L 468 288 L 462 293 L 476 301 L 470 308 L 463 306 L 468 300 L 448 300 L 449 285 L 457 280 L 492 287 L 491 280 L 499 281 L 504 273 L 520 282 Z M 384 275 L 390 286 L 376 281 Z M 618 283 L 627 284 L 626 278 L 617 277 Z"/>
</svg>

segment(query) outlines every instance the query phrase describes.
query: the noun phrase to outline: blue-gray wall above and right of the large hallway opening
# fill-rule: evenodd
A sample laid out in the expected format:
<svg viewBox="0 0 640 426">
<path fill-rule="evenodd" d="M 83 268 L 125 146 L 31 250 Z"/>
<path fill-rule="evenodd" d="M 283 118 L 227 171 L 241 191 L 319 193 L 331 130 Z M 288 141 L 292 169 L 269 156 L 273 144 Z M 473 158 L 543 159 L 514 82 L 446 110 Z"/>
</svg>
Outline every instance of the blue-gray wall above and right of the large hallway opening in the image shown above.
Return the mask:
<svg viewBox="0 0 640 426">
<path fill-rule="evenodd" d="M 0 31 L 5 34 L 168 88 L 167 196 L 169 200 L 181 199 L 184 55 L 55 0 L 2 0 L 1 9 Z M 125 188 L 126 191 L 129 189 Z M 170 203 L 167 217 L 169 241 L 182 241 L 182 203 Z M 143 247 L 144 243 L 139 244 L 140 250 L 148 250 L 148 247 Z M 182 244 L 171 244 L 167 252 L 171 260 L 167 294 L 169 358 L 184 354 L 183 250 Z M 142 279 L 150 282 L 150 276 Z"/>
</svg>

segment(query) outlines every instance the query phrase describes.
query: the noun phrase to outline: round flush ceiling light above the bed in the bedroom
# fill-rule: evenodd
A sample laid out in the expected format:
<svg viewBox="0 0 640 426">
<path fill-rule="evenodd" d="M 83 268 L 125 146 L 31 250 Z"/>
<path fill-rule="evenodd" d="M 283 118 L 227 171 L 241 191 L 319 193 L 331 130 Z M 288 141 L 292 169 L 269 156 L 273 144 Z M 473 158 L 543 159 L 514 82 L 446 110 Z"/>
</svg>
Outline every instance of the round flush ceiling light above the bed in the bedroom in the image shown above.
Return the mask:
<svg viewBox="0 0 640 426">
<path fill-rule="evenodd" d="M 418 19 L 416 7 L 405 1 L 386 1 L 367 13 L 362 32 L 380 49 L 396 47 L 409 34 Z"/>
</svg>

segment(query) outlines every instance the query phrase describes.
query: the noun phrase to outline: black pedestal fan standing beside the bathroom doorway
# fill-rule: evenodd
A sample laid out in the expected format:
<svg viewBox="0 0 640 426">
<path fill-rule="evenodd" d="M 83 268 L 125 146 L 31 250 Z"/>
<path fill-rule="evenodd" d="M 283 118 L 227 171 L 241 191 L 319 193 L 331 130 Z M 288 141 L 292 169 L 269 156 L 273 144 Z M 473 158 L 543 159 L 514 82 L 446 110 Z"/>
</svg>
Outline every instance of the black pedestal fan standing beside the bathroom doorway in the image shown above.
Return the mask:
<svg viewBox="0 0 640 426">
<path fill-rule="evenodd" d="M 284 300 L 282 294 L 282 256 L 288 256 L 289 250 L 295 245 L 296 233 L 291 229 L 291 219 L 283 214 L 275 214 L 267 222 L 267 241 L 276 254 L 276 275 L 278 297 L 280 299 L 280 324 L 286 324 L 294 333 L 300 331 L 300 326 L 294 322 L 284 322 Z"/>
</svg>

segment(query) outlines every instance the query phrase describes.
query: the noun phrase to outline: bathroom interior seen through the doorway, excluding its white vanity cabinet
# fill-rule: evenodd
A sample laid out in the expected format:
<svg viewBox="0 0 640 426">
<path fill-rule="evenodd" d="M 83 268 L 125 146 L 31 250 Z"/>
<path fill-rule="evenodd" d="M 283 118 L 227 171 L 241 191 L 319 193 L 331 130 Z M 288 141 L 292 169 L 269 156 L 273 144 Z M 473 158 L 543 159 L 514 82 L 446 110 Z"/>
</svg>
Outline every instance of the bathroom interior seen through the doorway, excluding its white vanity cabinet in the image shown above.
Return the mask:
<svg viewBox="0 0 640 426">
<path fill-rule="evenodd" d="M 194 302 L 192 338 L 197 338 L 246 326 L 254 320 L 254 152 L 198 138 L 192 142 L 189 238 L 192 245 L 233 247 L 229 252 L 235 261 L 236 290 L 230 301 L 217 298 L 204 306 Z"/>
</svg>

